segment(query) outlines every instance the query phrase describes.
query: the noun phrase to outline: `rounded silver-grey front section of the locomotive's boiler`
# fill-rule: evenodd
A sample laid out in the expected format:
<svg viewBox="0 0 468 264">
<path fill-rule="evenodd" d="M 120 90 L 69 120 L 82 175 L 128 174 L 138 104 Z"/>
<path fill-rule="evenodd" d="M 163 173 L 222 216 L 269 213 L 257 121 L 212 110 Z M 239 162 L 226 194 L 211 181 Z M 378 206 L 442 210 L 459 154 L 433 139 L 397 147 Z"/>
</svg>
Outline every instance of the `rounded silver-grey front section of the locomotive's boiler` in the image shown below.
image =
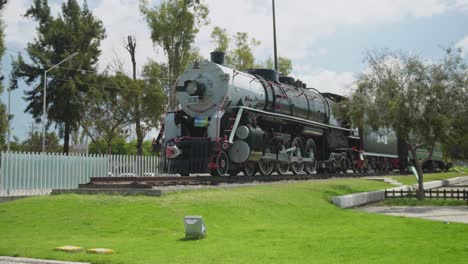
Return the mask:
<svg viewBox="0 0 468 264">
<path fill-rule="evenodd" d="M 240 101 L 252 108 L 265 101 L 263 86 L 255 77 L 210 61 L 191 64 L 178 79 L 176 91 L 177 101 L 191 117 L 211 117 L 220 107 Z"/>
</svg>

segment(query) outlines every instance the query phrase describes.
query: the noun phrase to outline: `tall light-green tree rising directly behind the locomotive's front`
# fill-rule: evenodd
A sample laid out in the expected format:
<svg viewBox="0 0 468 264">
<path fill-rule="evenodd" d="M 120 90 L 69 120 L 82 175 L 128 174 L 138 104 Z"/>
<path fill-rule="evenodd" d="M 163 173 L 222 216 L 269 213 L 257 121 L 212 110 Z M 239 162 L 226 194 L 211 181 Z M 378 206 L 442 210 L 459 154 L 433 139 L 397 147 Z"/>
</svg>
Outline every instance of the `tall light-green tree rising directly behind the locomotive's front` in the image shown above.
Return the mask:
<svg viewBox="0 0 468 264">
<path fill-rule="evenodd" d="M 154 44 L 167 56 L 168 79 L 180 75 L 193 57 L 192 45 L 199 28 L 208 23 L 208 7 L 203 0 L 163 0 L 149 8 L 140 0 L 140 11 L 151 30 Z M 175 82 L 175 80 L 172 80 Z M 170 90 L 169 107 L 176 107 L 175 89 Z"/>
</svg>

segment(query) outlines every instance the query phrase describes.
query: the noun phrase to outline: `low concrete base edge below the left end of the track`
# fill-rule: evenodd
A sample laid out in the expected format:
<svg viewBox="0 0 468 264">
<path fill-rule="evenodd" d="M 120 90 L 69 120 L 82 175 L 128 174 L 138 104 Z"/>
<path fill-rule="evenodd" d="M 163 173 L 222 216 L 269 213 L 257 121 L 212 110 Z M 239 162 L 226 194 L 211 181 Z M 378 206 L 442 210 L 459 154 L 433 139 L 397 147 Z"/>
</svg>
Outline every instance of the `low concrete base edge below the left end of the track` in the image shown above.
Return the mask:
<svg viewBox="0 0 468 264">
<path fill-rule="evenodd" d="M 61 189 L 52 190 L 51 194 L 111 194 L 111 195 L 146 195 L 161 196 L 162 191 L 157 189 L 123 189 L 123 188 L 90 188 L 90 189 Z"/>
</svg>

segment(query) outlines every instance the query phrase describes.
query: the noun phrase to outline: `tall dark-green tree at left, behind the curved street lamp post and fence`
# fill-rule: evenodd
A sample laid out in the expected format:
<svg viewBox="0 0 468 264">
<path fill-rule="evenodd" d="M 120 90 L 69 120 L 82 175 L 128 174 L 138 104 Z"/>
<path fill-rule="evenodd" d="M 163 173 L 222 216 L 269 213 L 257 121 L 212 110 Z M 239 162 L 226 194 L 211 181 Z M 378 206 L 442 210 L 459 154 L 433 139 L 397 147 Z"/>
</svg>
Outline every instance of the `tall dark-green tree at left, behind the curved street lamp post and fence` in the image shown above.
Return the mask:
<svg viewBox="0 0 468 264">
<path fill-rule="evenodd" d="M 47 0 L 34 0 L 27 10 L 26 17 L 38 22 L 37 37 L 28 43 L 27 52 L 30 62 L 20 55 L 13 62 L 13 75 L 22 78 L 32 86 L 25 92 L 29 102 L 25 112 L 32 114 L 37 122 L 43 115 L 43 85 L 47 81 L 47 117 L 48 125 L 55 122 L 63 132 L 63 152 L 68 153 L 70 134 L 78 129 L 83 102 L 88 85 L 80 71 L 66 68 L 96 71 L 101 51 L 100 42 L 105 37 L 102 22 L 95 18 L 86 2 L 80 7 L 76 0 L 62 4 L 62 13 L 53 17 Z M 45 69 L 78 52 L 73 59 L 62 67 L 48 72 L 44 80 Z"/>
</svg>

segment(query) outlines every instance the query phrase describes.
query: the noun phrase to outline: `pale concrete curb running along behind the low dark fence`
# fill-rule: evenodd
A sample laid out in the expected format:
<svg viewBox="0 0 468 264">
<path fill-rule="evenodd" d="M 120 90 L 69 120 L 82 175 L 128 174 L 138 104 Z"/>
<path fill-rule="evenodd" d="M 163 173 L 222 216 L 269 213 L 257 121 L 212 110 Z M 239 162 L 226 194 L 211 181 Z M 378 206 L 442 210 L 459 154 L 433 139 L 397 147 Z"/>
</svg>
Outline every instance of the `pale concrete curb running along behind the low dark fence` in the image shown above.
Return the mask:
<svg viewBox="0 0 468 264">
<path fill-rule="evenodd" d="M 460 182 L 468 181 L 468 177 L 457 177 L 448 180 L 441 180 L 441 181 L 432 181 L 424 183 L 424 189 L 433 189 L 439 188 L 447 185 L 457 184 Z M 396 188 L 391 188 L 387 190 L 395 190 L 395 191 L 409 191 L 413 189 L 417 189 L 418 185 L 415 184 L 413 186 L 401 186 Z M 355 193 L 355 194 L 348 194 L 343 196 L 335 196 L 332 198 L 332 202 L 334 205 L 341 207 L 341 208 L 349 208 L 355 207 L 359 205 L 364 205 L 367 203 L 378 202 L 385 199 L 385 190 L 380 191 L 373 191 L 373 192 L 363 192 L 363 193 Z"/>
</svg>

